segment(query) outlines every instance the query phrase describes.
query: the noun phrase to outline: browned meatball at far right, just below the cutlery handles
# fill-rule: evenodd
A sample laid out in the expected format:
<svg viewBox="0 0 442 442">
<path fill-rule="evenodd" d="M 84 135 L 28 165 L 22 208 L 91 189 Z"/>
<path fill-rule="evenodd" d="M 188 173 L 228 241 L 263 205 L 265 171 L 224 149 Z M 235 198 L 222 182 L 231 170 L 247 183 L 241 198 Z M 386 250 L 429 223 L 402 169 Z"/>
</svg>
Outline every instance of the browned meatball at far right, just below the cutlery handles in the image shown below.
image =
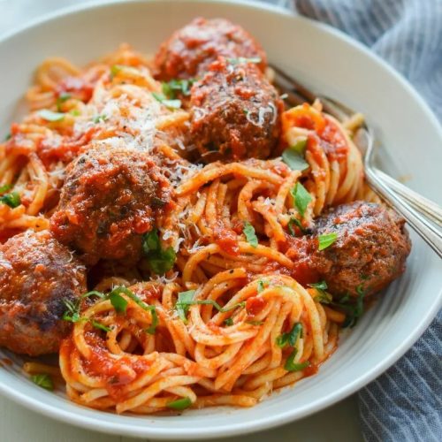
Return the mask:
<svg viewBox="0 0 442 442">
<path fill-rule="evenodd" d="M 337 240 L 318 250 L 317 237 L 333 232 Z M 360 201 L 318 217 L 313 235 L 299 241 L 288 255 L 301 266 L 307 263 L 331 293 L 352 296 L 361 292 L 367 296 L 388 286 L 405 271 L 411 249 L 402 217 L 383 205 Z"/>
</svg>

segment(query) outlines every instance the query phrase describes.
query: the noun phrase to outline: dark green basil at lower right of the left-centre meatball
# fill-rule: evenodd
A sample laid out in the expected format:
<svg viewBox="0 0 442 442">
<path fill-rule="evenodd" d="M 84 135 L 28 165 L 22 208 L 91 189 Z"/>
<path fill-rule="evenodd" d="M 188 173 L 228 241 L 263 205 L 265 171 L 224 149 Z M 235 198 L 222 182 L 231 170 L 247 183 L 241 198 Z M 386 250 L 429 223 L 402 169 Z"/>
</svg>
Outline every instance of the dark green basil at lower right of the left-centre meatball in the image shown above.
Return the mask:
<svg viewBox="0 0 442 442">
<path fill-rule="evenodd" d="M 170 271 L 177 259 L 177 254 L 172 247 L 161 247 L 157 229 L 143 235 L 142 251 L 150 271 L 156 275 L 164 275 L 166 271 Z"/>
</svg>

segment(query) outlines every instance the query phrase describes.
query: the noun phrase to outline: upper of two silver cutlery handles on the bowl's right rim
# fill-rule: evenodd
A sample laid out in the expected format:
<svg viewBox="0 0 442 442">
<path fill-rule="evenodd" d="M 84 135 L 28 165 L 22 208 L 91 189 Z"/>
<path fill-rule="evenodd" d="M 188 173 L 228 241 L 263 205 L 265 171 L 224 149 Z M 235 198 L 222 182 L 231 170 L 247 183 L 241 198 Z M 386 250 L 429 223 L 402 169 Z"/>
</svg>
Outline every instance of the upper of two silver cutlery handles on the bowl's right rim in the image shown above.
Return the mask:
<svg viewBox="0 0 442 442">
<path fill-rule="evenodd" d="M 437 225 L 442 226 L 442 208 L 436 203 L 432 202 L 428 198 L 417 194 L 409 187 L 404 186 L 396 179 L 392 179 L 389 175 L 374 168 L 375 173 L 382 179 L 388 187 L 391 187 L 396 194 L 399 194 L 404 200 L 408 202 L 417 211 L 422 211 L 425 215 L 431 218 Z"/>
</svg>

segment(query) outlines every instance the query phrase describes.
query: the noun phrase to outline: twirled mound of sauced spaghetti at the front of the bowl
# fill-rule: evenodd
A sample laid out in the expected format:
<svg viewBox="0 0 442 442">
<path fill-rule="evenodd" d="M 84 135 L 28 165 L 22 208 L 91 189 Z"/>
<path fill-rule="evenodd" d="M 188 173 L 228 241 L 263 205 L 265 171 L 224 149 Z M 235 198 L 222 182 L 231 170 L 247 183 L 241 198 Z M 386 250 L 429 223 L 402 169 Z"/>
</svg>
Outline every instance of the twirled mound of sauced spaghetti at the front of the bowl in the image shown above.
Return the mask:
<svg viewBox="0 0 442 442">
<path fill-rule="evenodd" d="M 118 413 L 253 406 L 335 348 L 338 324 L 313 296 L 293 278 L 241 268 L 191 291 L 179 282 L 116 287 L 61 346 L 67 393 Z"/>
</svg>

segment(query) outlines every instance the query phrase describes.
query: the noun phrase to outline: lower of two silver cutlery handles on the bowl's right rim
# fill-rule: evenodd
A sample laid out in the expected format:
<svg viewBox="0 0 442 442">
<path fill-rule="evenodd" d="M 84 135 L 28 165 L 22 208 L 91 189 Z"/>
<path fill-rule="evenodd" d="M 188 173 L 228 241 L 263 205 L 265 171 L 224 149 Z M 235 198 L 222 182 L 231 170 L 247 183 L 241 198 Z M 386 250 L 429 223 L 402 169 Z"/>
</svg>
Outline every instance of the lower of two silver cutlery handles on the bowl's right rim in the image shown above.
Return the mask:
<svg viewBox="0 0 442 442">
<path fill-rule="evenodd" d="M 442 258 L 442 233 L 420 215 L 419 212 L 414 210 L 399 194 L 395 194 L 392 189 L 377 176 L 375 171 L 366 168 L 365 173 L 373 190 L 404 217 L 408 225 L 411 225 L 415 232 Z"/>
</svg>

